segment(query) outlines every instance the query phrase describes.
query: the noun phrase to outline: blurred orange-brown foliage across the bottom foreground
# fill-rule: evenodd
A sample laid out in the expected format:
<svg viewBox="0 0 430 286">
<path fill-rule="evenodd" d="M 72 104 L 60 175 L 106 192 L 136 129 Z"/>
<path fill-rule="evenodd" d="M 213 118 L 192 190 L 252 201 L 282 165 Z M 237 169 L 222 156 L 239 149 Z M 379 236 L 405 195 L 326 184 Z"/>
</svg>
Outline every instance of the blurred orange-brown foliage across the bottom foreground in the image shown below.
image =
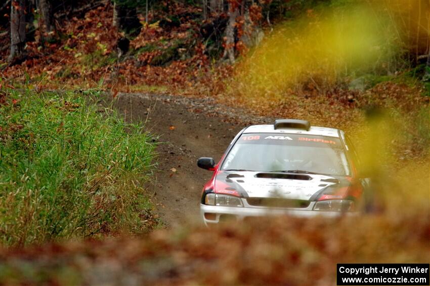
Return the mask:
<svg viewBox="0 0 430 286">
<path fill-rule="evenodd" d="M 428 263 L 429 241 L 420 212 L 262 219 L 2 251 L 0 282 L 335 285 L 336 263 Z"/>
</svg>

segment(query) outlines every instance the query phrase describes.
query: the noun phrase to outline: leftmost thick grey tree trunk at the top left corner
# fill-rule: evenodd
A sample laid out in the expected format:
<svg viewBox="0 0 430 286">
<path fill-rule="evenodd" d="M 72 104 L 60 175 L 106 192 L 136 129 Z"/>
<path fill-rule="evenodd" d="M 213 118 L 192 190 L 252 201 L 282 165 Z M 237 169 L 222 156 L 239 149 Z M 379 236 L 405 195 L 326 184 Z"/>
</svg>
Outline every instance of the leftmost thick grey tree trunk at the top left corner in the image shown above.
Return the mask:
<svg viewBox="0 0 430 286">
<path fill-rule="evenodd" d="M 25 0 L 12 1 L 11 5 L 11 53 L 9 61 L 22 56 L 25 46 Z"/>
</svg>

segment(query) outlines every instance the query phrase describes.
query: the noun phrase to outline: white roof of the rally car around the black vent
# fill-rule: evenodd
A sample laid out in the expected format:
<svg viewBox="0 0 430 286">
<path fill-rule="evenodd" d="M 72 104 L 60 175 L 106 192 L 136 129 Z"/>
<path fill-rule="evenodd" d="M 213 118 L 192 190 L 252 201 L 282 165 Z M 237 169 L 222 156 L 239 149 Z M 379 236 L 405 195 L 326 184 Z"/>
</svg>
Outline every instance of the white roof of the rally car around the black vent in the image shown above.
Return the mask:
<svg viewBox="0 0 430 286">
<path fill-rule="evenodd" d="M 270 125 L 251 125 L 243 133 L 282 133 L 282 134 L 304 134 L 320 135 L 339 138 L 339 130 L 327 127 L 312 126 L 309 131 L 298 128 L 275 129 L 273 124 Z"/>
</svg>

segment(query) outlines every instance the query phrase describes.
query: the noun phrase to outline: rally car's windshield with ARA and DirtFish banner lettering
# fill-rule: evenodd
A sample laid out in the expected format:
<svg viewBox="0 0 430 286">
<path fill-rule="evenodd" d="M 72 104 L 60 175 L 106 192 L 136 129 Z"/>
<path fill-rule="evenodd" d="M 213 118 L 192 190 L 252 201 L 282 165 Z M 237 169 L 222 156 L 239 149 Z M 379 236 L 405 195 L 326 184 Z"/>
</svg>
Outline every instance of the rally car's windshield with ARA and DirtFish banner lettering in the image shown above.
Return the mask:
<svg viewBox="0 0 430 286">
<path fill-rule="evenodd" d="M 221 170 L 350 174 L 347 157 L 338 138 L 279 133 L 242 134 Z"/>
</svg>

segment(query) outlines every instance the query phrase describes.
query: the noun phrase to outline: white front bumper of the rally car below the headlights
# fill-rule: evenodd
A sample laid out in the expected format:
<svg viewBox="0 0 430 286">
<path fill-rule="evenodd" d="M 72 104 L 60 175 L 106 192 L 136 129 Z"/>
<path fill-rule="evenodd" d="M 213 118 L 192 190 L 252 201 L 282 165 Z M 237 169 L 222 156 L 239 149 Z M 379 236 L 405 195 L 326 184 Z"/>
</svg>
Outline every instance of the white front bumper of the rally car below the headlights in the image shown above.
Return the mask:
<svg viewBox="0 0 430 286">
<path fill-rule="evenodd" d="M 313 207 L 313 205 L 312 205 Z M 247 217 L 262 217 L 262 216 L 280 216 L 289 215 L 294 217 L 339 217 L 347 214 L 348 216 L 356 215 L 357 213 L 340 213 L 340 212 L 321 212 L 313 211 L 311 208 L 306 209 L 279 209 L 279 208 L 249 208 L 249 207 L 220 207 L 208 206 L 200 203 L 200 215 L 205 225 L 217 224 L 227 218 L 241 221 Z M 205 215 L 206 214 L 206 215 Z"/>
</svg>

